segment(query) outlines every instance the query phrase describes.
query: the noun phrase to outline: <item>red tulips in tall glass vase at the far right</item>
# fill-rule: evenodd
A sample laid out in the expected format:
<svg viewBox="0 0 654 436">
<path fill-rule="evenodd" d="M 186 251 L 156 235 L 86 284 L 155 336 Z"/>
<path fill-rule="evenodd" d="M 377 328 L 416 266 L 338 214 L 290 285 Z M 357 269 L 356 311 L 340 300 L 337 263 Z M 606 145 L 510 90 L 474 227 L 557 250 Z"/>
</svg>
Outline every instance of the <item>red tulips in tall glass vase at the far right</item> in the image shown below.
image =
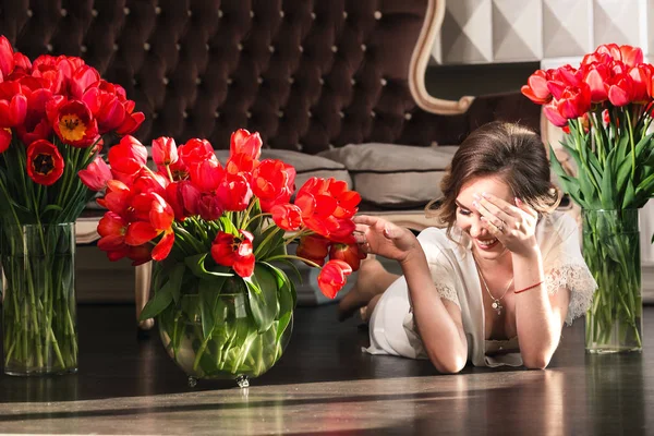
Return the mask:
<svg viewBox="0 0 654 436">
<path fill-rule="evenodd" d="M 640 48 L 609 44 L 579 68 L 538 70 L 522 87 L 564 128 L 561 144 L 577 166 L 577 174 L 566 173 L 550 153 L 562 187 L 582 207 L 584 257 L 598 283 L 586 316 L 590 351 L 642 347 L 638 208 L 654 195 L 653 78 Z"/>
</svg>

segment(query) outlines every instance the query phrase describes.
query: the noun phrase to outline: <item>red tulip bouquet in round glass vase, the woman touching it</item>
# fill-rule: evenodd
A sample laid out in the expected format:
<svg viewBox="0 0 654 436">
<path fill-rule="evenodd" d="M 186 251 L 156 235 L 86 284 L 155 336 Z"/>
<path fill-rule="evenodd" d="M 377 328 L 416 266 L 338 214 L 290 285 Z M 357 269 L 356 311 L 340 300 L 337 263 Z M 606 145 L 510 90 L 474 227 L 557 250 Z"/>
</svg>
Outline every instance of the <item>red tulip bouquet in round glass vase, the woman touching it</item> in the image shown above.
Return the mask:
<svg viewBox="0 0 654 436">
<path fill-rule="evenodd" d="M 261 149 L 258 133 L 239 130 L 221 164 L 206 140 L 178 147 L 159 137 L 150 169 L 146 147 L 125 136 L 97 168 L 108 208 L 98 246 L 112 261 L 155 261 L 141 317 L 157 317 L 170 355 L 194 377 L 258 376 L 279 359 L 295 290 L 276 264 L 322 268 L 318 286 L 334 298 L 362 258 L 352 235 L 360 195 L 313 178 L 291 203 L 294 168 L 259 160 Z"/>
</svg>

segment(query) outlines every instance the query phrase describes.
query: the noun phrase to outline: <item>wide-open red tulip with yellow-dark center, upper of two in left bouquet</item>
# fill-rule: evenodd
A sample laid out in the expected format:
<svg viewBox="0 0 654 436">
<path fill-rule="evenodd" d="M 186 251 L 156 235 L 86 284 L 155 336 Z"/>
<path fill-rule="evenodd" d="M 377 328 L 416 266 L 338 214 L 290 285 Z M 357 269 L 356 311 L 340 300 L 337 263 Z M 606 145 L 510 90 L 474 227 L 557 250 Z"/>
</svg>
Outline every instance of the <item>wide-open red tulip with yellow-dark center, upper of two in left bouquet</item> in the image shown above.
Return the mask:
<svg viewBox="0 0 654 436">
<path fill-rule="evenodd" d="M 62 143 L 86 148 L 98 140 L 98 126 L 85 102 L 72 100 L 46 109 L 55 133 Z"/>
</svg>

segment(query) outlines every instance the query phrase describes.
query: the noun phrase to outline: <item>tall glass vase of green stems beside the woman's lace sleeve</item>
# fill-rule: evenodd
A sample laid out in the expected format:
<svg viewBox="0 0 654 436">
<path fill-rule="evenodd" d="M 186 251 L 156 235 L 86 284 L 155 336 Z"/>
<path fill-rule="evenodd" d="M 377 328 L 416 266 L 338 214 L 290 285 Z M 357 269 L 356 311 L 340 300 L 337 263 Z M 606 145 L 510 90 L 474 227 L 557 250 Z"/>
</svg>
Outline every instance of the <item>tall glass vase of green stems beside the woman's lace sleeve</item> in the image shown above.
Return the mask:
<svg viewBox="0 0 654 436">
<path fill-rule="evenodd" d="M 583 257 L 597 290 L 585 317 L 590 353 L 642 350 L 638 209 L 582 210 Z"/>
</svg>

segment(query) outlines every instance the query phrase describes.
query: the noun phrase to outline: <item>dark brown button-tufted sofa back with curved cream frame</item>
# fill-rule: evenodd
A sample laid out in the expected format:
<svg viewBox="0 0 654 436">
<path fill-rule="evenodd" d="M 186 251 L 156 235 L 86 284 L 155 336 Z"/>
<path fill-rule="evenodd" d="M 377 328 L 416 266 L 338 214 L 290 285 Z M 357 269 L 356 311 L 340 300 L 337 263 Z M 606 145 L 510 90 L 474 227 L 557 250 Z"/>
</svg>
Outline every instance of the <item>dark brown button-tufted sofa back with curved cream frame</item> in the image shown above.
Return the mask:
<svg viewBox="0 0 654 436">
<path fill-rule="evenodd" d="M 298 161 L 347 144 L 457 145 L 494 119 L 537 130 L 538 107 L 518 93 L 427 94 L 444 10 L 445 0 L 2 0 L 0 33 L 31 58 L 81 56 L 124 86 L 146 116 L 144 143 L 206 137 L 225 149 L 246 128 Z M 420 208 L 387 214 L 424 227 Z M 147 271 L 137 281 L 138 312 Z"/>
</svg>

